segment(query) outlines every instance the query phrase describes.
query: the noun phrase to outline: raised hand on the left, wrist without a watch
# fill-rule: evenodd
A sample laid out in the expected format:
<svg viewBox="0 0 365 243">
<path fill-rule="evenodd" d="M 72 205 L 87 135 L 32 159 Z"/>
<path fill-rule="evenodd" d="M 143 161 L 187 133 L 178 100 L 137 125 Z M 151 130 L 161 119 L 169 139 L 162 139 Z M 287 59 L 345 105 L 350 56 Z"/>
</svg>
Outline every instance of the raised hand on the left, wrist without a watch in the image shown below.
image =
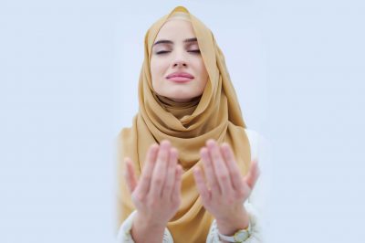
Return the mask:
<svg viewBox="0 0 365 243">
<path fill-rule="evenodd" d="M 137 217 L 153 226 L 165 227 L 180 206 L 183 168 L 177 158 L 178 152 L 169 141 L 152 144 L 139 181 L 132 161 L 125 158 L 126 182 Z"/>
</svg>

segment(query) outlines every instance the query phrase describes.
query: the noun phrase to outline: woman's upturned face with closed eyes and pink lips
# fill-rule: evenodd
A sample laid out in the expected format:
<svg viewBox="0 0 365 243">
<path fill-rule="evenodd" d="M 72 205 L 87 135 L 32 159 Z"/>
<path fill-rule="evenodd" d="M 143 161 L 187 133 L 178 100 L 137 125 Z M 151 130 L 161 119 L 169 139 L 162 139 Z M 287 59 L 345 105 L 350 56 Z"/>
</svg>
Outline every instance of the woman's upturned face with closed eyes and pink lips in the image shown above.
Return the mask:
<svg viewBox="0 0 365 243">
<path fill-rule="evenodd" d="M 151 79 L 156 93 L 178 102 L 202 95 L 208 73 L 189 21 L 167 21 L 151 52 Z"/>
</svg>

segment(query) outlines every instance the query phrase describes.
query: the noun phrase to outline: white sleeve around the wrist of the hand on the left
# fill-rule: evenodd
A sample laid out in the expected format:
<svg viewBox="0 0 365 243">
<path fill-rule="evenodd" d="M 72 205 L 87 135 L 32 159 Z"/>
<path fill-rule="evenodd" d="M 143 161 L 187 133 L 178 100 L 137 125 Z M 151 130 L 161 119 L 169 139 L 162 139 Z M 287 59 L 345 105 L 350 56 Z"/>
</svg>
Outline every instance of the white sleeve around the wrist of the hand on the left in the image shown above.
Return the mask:
<svg viewBox="0 0 365 243">
<path fill-rule="evenodd" d="M 118 237 L 117 237 L 118 243 L 134 243 L 134 240 L 133 240 L 133 238 L 131 238 L 131 235 L 130 235 L 130 229 L 133 225 L 133 218 L 136 215 L 136 213 L 137 213 L 136 210 L 131 212 L 130 216 L 127 217 L 126 220 L 124 220 L 124 222 L 121 224 L 120 230 L 118 232 Z M 171 235 L 169 229 L 167 229 L 167 227 L 165 227 L 162 242 L 163 243 L 173 243 L 172 235 Z"/>
</svg>

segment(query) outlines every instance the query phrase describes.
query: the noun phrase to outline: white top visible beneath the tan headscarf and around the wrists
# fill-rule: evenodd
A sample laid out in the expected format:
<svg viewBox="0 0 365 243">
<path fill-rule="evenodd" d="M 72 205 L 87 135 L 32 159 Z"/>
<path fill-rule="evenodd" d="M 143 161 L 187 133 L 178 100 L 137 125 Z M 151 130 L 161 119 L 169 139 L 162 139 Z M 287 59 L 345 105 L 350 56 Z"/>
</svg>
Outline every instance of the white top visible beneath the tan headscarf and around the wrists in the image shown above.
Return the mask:
<svg viewBox="0 0 365 243">
<path fill-rule="evenodd" d="M 260 176 L 258 177 L 254 190 L 245 201 L 245 209 L 249 215 L 252 235 L 245 240 L 245 243 L 262 243 L 266 242 L 263 228 L 268 227 L 268 198 L 271 185 L 271 164 L 270 153 L 271 146 L 268 141 L 259 133 L 245 129 L 250 147 L 251 147 L 251 161 L 257 159 Z M 134 243 L 130 236 L 130 229 L 132 227 L 133 217 L 137 211 L 133 211 L 129 217 L 121 224 L 117 237 L 118 243 Z M 215 220 L 212 222 L 206 243 L 220 243 L 222 242 L 218 237 L 218 228 Z M 173 243 L 172 235 L 166 227 L 163 235 L 163 243 Z"/>
</svg>

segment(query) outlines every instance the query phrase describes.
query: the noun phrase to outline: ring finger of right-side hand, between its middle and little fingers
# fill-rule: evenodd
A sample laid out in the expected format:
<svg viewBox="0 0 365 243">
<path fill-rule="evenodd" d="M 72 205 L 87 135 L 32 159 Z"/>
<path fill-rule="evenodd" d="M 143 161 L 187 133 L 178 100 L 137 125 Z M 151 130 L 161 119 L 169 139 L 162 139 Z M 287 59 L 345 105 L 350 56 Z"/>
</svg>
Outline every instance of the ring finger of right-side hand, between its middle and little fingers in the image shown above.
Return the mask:
<svg viewBox="0 0 365 243">
<path fill-rule="evenodd" d="M 203 160 L 205 178 L 208 186 L 210 187 L 210 191 L 212 192 L 212 196 L 220 195 L 221 188 L 218 185 L 217 178 L 214 173 L 213 164 L 208 154 L 208 149 L 206 147 L 203 147 L 200 151 L 200 155 L 202 156 Z"/>
</svg>

